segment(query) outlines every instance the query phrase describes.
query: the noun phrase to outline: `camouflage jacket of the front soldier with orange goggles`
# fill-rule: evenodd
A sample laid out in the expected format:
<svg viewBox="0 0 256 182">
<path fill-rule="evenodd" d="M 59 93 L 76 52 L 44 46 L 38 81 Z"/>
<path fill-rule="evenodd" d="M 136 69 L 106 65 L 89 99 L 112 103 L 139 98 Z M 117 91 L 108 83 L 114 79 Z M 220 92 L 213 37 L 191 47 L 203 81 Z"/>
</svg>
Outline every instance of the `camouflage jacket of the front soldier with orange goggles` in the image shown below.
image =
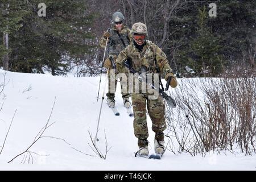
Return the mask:
<svg viewBox="0 0 256 182">
<path fill-rule="evenodd" d="M 125 72 L 126 68 L 123 63 L 127 59 L 131 60 L 132 67 L 139 73 L 142 73 L 141 68 L 143 66 L 147 69 L 146 73 L 159 73 L 166 80 L 169 75 L 167 73 L 172 73 L 165 53 L 149 40 L 146 40 L 146 45 L 141 52 L 131 43 L 118 55 L 116 63 L 120 73 Z"/>
</svg>

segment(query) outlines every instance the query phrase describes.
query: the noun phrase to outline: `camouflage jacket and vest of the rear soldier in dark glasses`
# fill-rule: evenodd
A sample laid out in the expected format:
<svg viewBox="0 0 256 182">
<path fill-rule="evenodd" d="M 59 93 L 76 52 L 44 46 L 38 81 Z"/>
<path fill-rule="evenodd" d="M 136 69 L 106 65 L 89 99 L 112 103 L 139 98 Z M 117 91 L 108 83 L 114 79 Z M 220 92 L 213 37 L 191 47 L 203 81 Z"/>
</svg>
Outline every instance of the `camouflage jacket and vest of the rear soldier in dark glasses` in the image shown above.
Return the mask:
<svg viewBox="0 0 256 182">
<path fill-rule="evenodd" d="M 125 48 L 127 47 L 133 40 L 133 35 L 130 34 L 130 29 L 127 28 L 126 26 L 122 27 L 121 32 L 119 32 L 121 38 L 123 39 L 123 42 L 125 43 L 125 47 L 123 46 L 123 43 L 121 39 L 119 38 L 117 34 L 117 29 L 115 26 L 110 29 L 110 38 L 108 40 L 108 53 L 109 55 L 116 55 L 118 54 Z M 102 48 L 105 48 L 106 46 L 106 38 L 104 36 L 101 37 L 100 39 L 100 46 Z"/>
</svg>

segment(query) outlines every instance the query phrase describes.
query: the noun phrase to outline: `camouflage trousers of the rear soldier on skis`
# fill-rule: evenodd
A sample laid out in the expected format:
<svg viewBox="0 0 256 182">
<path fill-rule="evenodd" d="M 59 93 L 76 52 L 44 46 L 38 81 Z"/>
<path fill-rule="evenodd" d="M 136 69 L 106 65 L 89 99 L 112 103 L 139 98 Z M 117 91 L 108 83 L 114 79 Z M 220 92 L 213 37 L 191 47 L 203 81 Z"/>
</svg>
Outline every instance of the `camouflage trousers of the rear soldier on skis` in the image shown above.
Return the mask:
<svg viewBox="0 0 256 182">
<path fill-rule="evenodd" d="M 117 57 L 113 56 L 112 59 L 115 62 Z M 115 93 L 114 92 L 115 92 L 115 90 L 117 88 L 117 82 L 118 82 L 117 79 L 116 79 L 117 74 L 118 74 L 117 69 L 115 69 L 114 73 L 110 72 L 110 69 L 108 71 L 108 93 L 106 93 L 106 96 L 108 98 L 110 98 L 110 99 L 114 99 L 115 98 Z M 111 81 L 114 81 L 114 84 L 112 83 L 112 85 L 111 85 Z M 114 87 L 114 88 L 112 88 L 112 87 Z M 124 86 L 124 85 L 121 84 L 121 89 L 122 88 L 126 90 L 126 92 L 122 92 L 122 90 L 121 90 L 122 98 L 129 98 L 129 97 L 131 97 L 131 94 L 128 93 L 128 85 Z"/>
</svg>

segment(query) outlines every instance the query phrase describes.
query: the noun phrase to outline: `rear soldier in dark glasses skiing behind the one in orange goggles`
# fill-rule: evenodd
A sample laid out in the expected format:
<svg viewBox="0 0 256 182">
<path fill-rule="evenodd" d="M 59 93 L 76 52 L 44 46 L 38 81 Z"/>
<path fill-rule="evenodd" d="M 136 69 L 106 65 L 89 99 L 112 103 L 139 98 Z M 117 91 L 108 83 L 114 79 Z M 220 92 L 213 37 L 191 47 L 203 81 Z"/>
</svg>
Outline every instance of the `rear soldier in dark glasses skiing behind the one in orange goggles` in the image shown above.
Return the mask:
<svg viewBox="0 0 256 182">
<path fill-rule="evenodd" d="M 106 46 L 106 40 L 108 39 L 108 54 L 109 57 L 104 62 L 104 67 L 107 69 L 115 69 L 115 60 L 117 59 L 117 56 L 119 53 L 125 49 L 130 42 L 133 40 L 133 36 L 130 34 L 130 29 L 127 28 L 123 20 L 125 20 L 125 17 L 120 12 L 115 12 L 112 16 L 112 21 L 114 22 L 114 26 L 108 31 L 104 32 L 104 35 L 100 39 L 100 46 L 102 48 L 105 48 Z M 117 75 L 118 72 L 115 72 L 115 75 Z M 115 78 L 115 75 L 110 74 L 110 71 L 108 72 L 108 80 L 109 80 L 109 91 L 106 94 L 108 97 L 107 102 L 110 107 L 114 107 L 115 105 L 115 94 L 111 93 L 110 91 L 110 77 L 113 76 Z M 117 80 L 115 80 L 115 88 L 117 86 Z M 123 104 L 125 107 L 130 107 L 131 102 L 129 100 L 130 94 L 122 93 L 123 97 Z"/>
</svg>

